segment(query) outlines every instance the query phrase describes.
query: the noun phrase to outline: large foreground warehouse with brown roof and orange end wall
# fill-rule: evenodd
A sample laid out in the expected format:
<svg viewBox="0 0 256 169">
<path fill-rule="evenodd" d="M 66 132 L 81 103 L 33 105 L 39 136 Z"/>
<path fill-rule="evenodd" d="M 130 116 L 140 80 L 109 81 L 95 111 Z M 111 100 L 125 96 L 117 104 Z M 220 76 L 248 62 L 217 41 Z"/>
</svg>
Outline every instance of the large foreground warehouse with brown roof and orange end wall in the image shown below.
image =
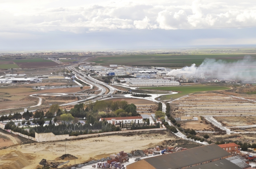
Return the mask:
<svg viewBox="0 0 256 169">
<path fill-rule="evenodd" d="M 232 157 L 216 144 L 145 158 L 127 165 L 127 169 L 185 169 Z M 228 162 L 227 162 L 228 163 Z M 198 168 L 199 169 L 199 168 Z"/>
</svg>

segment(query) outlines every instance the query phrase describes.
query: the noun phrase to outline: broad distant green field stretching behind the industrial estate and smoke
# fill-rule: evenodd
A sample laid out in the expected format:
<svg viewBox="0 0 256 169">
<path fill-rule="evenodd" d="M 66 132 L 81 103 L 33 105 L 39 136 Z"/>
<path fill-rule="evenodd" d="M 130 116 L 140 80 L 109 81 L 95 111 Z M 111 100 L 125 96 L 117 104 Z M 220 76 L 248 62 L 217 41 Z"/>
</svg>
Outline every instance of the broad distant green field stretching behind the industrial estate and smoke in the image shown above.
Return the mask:
<svg viewBox="0 0 256 169">
<path fill-rule="evenodd" d="M 121 64 L 121 65 L 149 65 L 149 66 L 169 66 L 183 67 L 195 63 L 199 66 L 204 59 L 222 59 L 226 62 L 235 62 L 244 58 L 246 54 L 191 54 L 191 55 L 117 55 L 117 56 L 97 56 L 90 60 L 95 63 Z M 256 60 L 256 55 L 251 54 L 252 60 Z"/>
</svg>

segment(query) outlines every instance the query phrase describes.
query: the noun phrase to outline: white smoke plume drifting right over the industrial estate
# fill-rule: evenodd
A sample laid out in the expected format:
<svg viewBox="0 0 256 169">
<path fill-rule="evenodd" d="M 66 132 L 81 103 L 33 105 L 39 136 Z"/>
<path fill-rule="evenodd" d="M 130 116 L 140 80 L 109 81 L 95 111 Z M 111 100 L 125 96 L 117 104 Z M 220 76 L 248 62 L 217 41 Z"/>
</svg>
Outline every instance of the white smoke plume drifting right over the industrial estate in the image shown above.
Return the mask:
<svg viewBox="0 0 256 169">
<path fill-rule="evenodd" d="M 256 60 L 251 56 L 245 56 L 242 60 L 226 62 L 225 60 L 205 59 L 196 67 L 196 64 L 181 69 L 173 69 L 166 75 L 197 75 L 204 73 L 206 77 L 221 79 L 256 79 Z"/>
</svg>

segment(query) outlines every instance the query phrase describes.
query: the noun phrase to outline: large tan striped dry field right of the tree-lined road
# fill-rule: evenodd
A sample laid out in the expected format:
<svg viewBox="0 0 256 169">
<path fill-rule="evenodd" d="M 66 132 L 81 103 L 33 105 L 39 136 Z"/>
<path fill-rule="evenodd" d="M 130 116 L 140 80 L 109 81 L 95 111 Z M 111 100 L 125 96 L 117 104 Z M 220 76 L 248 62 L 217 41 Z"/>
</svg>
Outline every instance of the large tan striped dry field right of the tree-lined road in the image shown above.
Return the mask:
<svg viewBox="0 0 256 169">
<path fill-rule="evenodd" d="M 246 115 L 254 114 L 256 102 L 219 93 L 192 94 L 171 104 L 177 115 Z M 233 118 L 233 117 L 232 117 Z M 254 117 L 250 117 L 254 118 Z"/>
</svg>

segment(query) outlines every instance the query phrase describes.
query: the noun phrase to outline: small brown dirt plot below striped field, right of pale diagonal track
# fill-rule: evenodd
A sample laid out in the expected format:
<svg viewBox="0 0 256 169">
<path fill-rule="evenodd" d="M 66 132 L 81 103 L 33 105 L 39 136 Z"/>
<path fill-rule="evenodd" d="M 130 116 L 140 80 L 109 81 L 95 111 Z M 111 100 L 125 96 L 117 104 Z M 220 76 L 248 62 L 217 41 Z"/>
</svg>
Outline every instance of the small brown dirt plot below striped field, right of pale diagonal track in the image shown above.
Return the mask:
<svg viewBox="0 0 256 169">
<path fill-rule="evenodd" d="M 251 117 L 250 117 L 251 118 Z M 218 122 L 228 127 L 254 125 L 255 121 L 248 117 L 215 117 Z"/>
</svg>

